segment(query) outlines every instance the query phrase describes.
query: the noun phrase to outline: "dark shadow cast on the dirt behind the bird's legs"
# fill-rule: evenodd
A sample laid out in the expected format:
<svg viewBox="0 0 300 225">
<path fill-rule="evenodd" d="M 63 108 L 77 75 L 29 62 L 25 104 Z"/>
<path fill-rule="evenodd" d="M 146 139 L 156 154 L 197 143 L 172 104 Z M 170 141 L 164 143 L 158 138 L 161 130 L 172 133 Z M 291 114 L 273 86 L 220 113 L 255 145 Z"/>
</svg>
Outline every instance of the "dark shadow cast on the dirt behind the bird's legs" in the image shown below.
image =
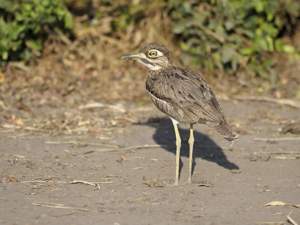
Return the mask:
<svg viewBox="0 0 300 225">
<path fill-rule="evenodd" d="M 148 125 L 155 127 L 155 133 L 153 134 L 153 139 L 157 144 L 164 145 L 164 149 L 176 154 L 175 146 L 175 131 L 173 124 L 169 118 L 149 118 L 145 123 L 139 123 L 142 125 Z M 180 125 L 179 125 L 180 126 Z M 179 134 L 181 138 L 181 148 L 180 157 L 189 157 L 189 145 L 187 143 L 189 138 L 189 129 L 182 129 L 178 126 Z M 195 158 L 202 158 L 207 161 L 215 162 L 219 166 L 226 169 L 238 169 L 239 167 L 233 162 L 228 161 L 226 155 L 220 146 L 218 146 L 211 138 L 207 135 L 193 130 L 194 135 L 194 145 L 193 145 L 193 155 L 192 155 L 192 167 L 191 172 L 193 173 L 195 167 Z M 175 157 L 174 157 L 175 160 Z M 179 175 L 182 169 L 182 160 L 179 161 Z"/>
</svg>

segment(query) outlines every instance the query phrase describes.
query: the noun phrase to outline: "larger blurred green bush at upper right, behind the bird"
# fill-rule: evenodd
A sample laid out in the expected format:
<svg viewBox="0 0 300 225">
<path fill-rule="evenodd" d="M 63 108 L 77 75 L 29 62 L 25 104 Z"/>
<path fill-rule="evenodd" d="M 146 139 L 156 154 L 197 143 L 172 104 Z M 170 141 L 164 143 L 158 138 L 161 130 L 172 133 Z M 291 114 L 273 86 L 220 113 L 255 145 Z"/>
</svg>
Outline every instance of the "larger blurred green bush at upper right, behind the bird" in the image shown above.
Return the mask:
<svg viewBox="0 0 300 225">
<path fill-rule="evenodd" d="M 194 63 L 235 73 L 239 66 L 251 75 L 268 77 L 274 61 L 267 52 L 294 53 L 280 36 L 299 17 L 296 0 L 169 0 L 182 50 Z"/>
</svg>

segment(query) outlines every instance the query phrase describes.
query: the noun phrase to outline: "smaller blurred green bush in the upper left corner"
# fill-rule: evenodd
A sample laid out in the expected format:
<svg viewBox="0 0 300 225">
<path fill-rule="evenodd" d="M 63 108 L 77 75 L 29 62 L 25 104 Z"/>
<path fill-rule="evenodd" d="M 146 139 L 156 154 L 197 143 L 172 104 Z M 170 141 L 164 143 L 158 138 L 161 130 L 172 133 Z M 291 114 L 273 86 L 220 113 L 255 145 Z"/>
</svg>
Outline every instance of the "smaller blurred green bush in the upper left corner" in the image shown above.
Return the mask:
<svg viewBox="0 0 300 225">
<path fill-rule="evenodd" d="M 28 59 L 42 49 L 44 27 L 70 29 L 72 15 L 61 0 L 2 0 L 0 61 Z"/>
</svg>

